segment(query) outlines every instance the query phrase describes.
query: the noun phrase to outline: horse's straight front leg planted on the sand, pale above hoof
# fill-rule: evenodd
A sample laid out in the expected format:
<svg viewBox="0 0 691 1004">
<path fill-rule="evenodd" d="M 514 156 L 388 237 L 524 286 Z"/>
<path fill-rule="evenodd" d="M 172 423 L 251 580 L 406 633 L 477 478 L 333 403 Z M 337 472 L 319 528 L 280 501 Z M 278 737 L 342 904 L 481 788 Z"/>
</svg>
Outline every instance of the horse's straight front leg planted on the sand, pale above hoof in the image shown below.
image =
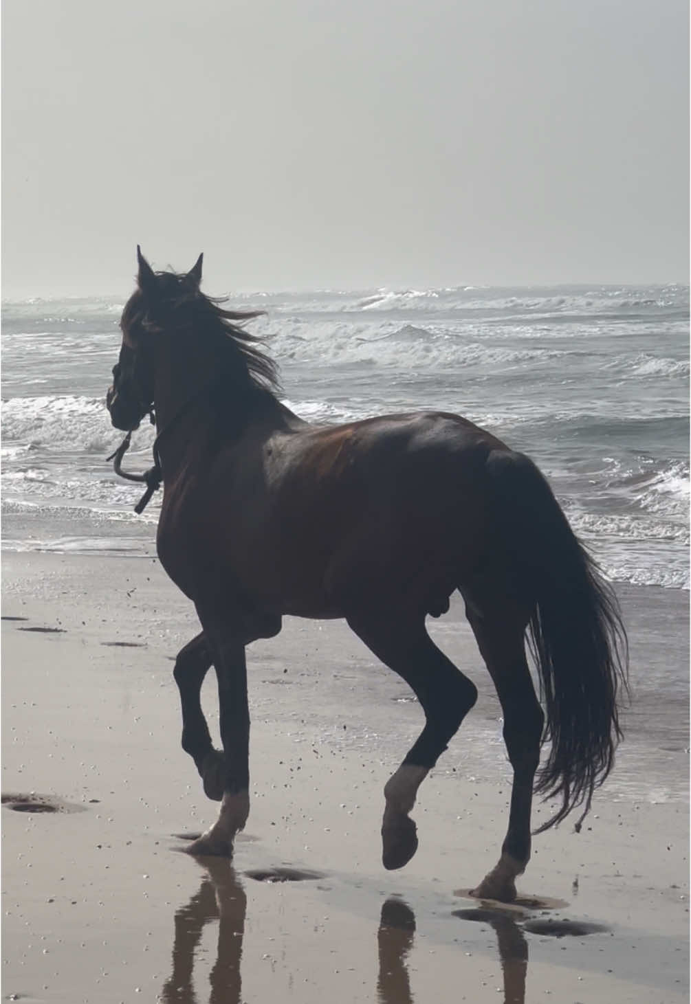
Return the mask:
<svg viewBox="0 0 691 1004">
<path fill-rule="evenodd" d="M 235 834 L 249 814 L 249 708 L 245 639 L 225 623 L 203 615 L 206 643 L 218 678 L 219 716 L 223 742 L 221 811 L 213 826 L 194 840 L 191 854 L 232 856 Z"/>
</svg>

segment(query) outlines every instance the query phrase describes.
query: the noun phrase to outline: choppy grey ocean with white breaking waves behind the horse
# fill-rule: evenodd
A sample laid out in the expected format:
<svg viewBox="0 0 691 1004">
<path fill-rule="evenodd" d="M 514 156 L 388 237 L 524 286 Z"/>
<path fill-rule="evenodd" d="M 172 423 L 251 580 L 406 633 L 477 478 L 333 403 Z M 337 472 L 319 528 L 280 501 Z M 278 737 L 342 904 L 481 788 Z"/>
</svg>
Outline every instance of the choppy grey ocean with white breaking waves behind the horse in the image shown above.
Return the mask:
<svg viewBox="0 0 691 1004">
<path fill-rule="evenodd" d="M 161 494 L 105 460 L 122 298 L 3 304 L 3 547 L 155 553 Z M 527 453 L 616 582 L 689 588 L 689 287 L 317 290 L 233 296 L 298 415 L 456 412 Z M 154 430 L 126 468 L 151 463 Z"/>
</svg>

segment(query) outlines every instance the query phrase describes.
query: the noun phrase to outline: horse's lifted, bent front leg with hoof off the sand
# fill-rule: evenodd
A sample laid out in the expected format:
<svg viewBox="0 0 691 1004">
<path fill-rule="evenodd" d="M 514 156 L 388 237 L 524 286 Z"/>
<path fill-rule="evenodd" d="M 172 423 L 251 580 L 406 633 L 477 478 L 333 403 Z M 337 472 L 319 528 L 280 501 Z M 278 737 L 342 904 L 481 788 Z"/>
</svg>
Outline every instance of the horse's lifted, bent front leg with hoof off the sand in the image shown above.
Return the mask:
<svg viewBox="0 0 691 1004">
<path fill-rule="evenodd" d="M 183 713 L 182 745 L 194 760 L 209 798 L 220 801 L 223 795 L 223 754 L 211 744 L 209 727 L 201 704 L 204 677 L 211 667 L 211 652 L 204 632 L 193 638 L 178 653 L 173 677 L 180 691 Z"/>
</svg>

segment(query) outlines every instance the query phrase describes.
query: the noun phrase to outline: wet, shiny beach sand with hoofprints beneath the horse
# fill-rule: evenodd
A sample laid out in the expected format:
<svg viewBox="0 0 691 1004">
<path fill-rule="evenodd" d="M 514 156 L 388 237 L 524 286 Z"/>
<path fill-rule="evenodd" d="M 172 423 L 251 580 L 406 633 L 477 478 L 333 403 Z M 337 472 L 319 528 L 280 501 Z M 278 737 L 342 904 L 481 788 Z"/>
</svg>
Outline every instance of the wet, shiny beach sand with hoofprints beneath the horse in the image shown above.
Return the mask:
<svg viewBox="0 0 691 1004">
<path fill-rule="evenodd" d="M 496 860 L 510 771 L 458 605 L 433 630 L 480 699 L 421 788 L 410 864 L 384 870 L 379 829 L 419 707 L 343 624 L 286 619 L 249 652 L 230 865 L 180 853 L 216 813 L 180 748 L 185 597 L 151 558 L 5 554 L 3 999 L 687 1000 L 687 600 L 622 590 L 628 741 L 583 831 L 537 836 L 500 908 L 464 895 Z"/>
</svg>

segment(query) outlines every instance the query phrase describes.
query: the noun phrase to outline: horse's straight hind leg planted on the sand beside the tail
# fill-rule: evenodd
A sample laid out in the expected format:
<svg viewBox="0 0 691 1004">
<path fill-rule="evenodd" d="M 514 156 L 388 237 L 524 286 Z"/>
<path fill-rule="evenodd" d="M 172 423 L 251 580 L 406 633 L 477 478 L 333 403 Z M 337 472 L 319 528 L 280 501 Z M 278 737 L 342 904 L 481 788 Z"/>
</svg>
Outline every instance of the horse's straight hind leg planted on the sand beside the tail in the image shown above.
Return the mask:
<svg viewBox="0 0 691 1004">
<path fill-rule="evenodd" d="M 532 782 L 539 762 L 544 716 L 535 697 L 525 659 L 527 616 L 508 604 L 509 616 L 483 615 L 470 604 L 468 619 L 496 687 L 504 718 L 504 742 L 513 767 L 508 829 L 498 863 L 473 892 L 481 899 L 515 900 L 515 877 L 530 857 Z"/>
</svg>

